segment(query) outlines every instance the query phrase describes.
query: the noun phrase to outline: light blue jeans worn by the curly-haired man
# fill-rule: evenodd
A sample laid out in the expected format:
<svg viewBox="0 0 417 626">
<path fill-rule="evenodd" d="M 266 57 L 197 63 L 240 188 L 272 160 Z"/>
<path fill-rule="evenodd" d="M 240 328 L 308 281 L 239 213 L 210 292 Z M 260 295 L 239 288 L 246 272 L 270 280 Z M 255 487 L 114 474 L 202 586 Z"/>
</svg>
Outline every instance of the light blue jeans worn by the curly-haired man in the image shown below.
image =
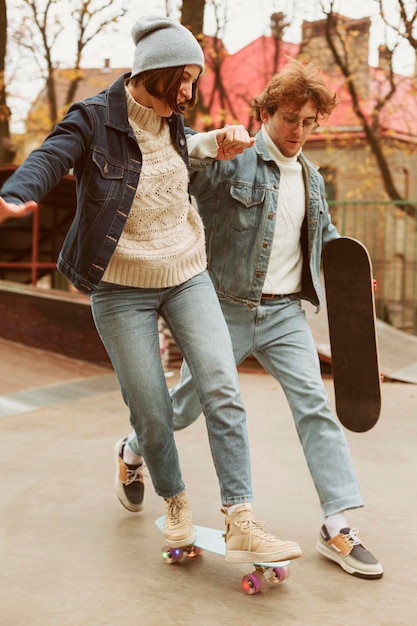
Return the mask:
<svg viewBox="0 0 417 626">
<path fill-rule="evenodd" d="M 324 514 L 363 506 L 343 430 L 328 405 L 317 349 L 300 300 L 289 296 L 252 309 L 221 300 L 221 306 L 236 363 L 253 354 L 286 394 Z M 201 413 L 186 363 L 171 399 L 175 430 L 185 428 Z"/>
</svg>

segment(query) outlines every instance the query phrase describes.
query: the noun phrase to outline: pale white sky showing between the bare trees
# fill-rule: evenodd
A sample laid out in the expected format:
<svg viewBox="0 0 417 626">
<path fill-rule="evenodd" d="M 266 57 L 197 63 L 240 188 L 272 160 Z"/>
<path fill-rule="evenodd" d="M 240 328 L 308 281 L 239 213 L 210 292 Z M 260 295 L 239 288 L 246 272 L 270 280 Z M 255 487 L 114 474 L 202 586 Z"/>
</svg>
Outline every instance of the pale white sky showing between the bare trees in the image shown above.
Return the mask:
<svg viewBox="0 0 417 626">
<path fill-rule="evenodd" d="M 134 22 L 149 13 L 160 15 L 166 14 L 166 0 L 129 0 L 130 10 L 128 14 L 119 21 L 118 32 L 111 35 L 98 35 L 93 39 L 91 44 L 85 49 L 83 57 L 84 67 L 101 67 L 106 58 L 110 59 L 112 67 L 130 67 L 133 59 L 133 42 L 130 38 L 130 29 Z M 219 3 L 219 0 L 217 0 Z M 386 10 L 396 4 L 396 0 L 384 0 Z M 170 0 L 169 6 L 172 7 L 171 16 L 179 18 L 179 12 L 175 12 L 175 6 L 180 4 L 176 0 Z M 319 0 L 222 0 L 222 6 L 227 6 L 227 22 L 220 36 L 230 54 L 233 54 L 240 48 L 243 48 L 251 41 L 257 39 L 261 35 L 269 35 L 270 16 L 273 12 L 282 11 L 288 15 L 291 20 L 291 26 L 287 29 L 284 39 L 297 43 L 300 40 L 301 23 L 303 20 L 317 20 L 323 17 L 318 6 Z M 415 2 L 413 1 L 414 5 Z M 16 0 L 7 1 L 7 11 L 9 24 L 13 24 L 13 19 L 18 18 L 16 8 L 18 2 Z M 377 61 L 376 50 L 378 48 L 378 39 L 382 36 L 383 29 L 377 26 L 378 3 L 375 0 L 338 0 L 337 10 L 340 14 L 347 17 L 364 17 L 369 16 L 373 20 L 374 26 L 371 28 L 371 45 L 373 42 L 373 53 L 370 55 L 369 62 L 374 65 Z M 393 23 L 396 18 L 391 11 Z M 206 12 L 204 18 L 204 32 L 207 35 L 215 34 L 215 19 L 212 8 L 212 2 L 206 0 Z M 72 63 L 74 52 L 71 51 L 71 44 L 74 38 L 71 38 L 70 28 L 67 28 L 66 38 L 68 44 L 62 43 L 59 51 L 59 61 L 61 66 L 65 67 Z M 109 41 L 111 44 L 109 45 Z M 405 48 L 397 54 L 396 71 L 400 73 L 410 73 L 413 68 L 414 55 L 410 54 L 410 50 Z M 30 62 L 30 60 L 28 61 Z M 27 80 L 28 68 L 24 66 L 21 78 L 18 80 L 16 76 L 17 70 L 12 67 L 13 73 L 13 92 L 9 96 L 9 106 L 13 111 L 11 123 L 12 132 L 22 132 L 22 119 L 25 118 L 31 101 L 36 97 L 37 93 L 43 86 L 42 80 L 35 80 L 36 68 L 32 70 L 31 81 Z M 31 72 L 29 72 L 31 74 Z M 6 74 L 7 80 L 7 74 Z"/>
</svg>

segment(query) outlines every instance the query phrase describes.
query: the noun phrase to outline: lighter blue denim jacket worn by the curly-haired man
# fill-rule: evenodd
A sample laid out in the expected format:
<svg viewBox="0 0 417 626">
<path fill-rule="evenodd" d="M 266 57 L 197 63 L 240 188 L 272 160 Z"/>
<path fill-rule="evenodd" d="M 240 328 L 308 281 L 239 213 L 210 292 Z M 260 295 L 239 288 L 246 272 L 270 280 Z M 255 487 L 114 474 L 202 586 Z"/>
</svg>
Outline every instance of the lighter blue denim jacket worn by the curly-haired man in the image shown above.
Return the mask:
<svg viewBox="0 0 417 626">
<path fill-rule="evenodd" d="M 193 131 L 186 129 L 187 133 Z M 322 246 L 338 237 L 318 167 L 303 154 L 306 220 L 301 298 L 317 307 L 322 300 Z M 190 159 L 191 193 L 206 230 L 208 269 L 219 296 L 249 307 L 259 304 L 271 254 L 280 172 L 262 138 L 231 161 Z"/>
</svg>

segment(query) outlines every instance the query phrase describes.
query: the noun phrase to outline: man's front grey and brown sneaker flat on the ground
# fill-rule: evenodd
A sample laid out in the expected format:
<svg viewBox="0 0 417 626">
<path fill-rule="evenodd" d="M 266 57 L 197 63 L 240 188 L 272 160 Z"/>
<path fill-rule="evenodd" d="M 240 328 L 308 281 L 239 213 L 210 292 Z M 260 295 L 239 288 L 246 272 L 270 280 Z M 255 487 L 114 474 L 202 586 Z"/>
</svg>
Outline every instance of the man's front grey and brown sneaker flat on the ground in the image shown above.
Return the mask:
<svg viewBox="0 0 417 626">
<path fill-rule="evenodd" d="M 357 528 L 342 528 L 336 537 L 330 537 L 325 524 L 320 529 L 316 550 L 334 561 L 348 574 L 359 578 L 381 578 L 384 573 L 378 560 L 365 548 Z"/>
</svg>

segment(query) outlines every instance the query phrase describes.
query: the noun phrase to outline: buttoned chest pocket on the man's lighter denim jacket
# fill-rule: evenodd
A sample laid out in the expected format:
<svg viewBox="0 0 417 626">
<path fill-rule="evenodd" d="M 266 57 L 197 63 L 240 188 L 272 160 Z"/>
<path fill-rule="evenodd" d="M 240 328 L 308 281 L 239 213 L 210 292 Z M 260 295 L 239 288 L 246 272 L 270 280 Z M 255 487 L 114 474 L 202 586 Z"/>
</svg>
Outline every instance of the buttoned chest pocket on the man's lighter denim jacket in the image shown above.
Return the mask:
<svg viewBox="0 0 417 626">
<path fill-rule="evenodd" d="M 231 185 L 230 187 L 230 226 L 244 231 L 258 228 L 262 216 L 265 189 L 251 185 Z"/>
</svg>

